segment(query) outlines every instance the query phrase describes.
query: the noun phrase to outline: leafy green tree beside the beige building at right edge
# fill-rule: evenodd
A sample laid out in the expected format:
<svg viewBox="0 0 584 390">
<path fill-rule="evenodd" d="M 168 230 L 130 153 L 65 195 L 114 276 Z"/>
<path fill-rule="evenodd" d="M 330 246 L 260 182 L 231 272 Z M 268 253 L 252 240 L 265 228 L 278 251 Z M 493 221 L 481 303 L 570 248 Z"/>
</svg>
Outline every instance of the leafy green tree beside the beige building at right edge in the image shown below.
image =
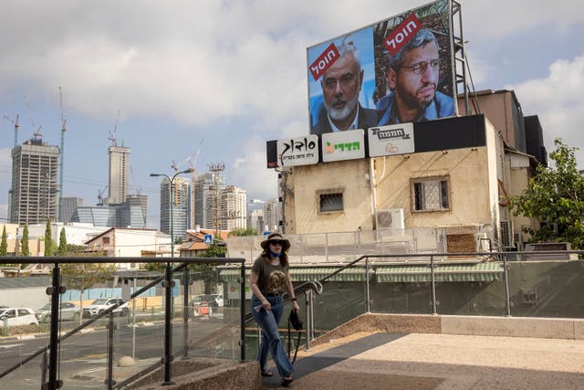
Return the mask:
<svg viewBox="0 0 584 390">
<path fill-rule="evenodd" d="M 578 148 L 570 148 L 557 138 L 556 150 L 549 153 L 555 168 L 537 165 L 527 189 L 511 198 L 515 216 L 537 218 L 539 229 L 524 228 L 531 242 L 564 241 L 573 249 L 584 248 L 584 177 L 576 165 Z M 557 228 L 556 228 L 557 226 Z"/>
</svg>

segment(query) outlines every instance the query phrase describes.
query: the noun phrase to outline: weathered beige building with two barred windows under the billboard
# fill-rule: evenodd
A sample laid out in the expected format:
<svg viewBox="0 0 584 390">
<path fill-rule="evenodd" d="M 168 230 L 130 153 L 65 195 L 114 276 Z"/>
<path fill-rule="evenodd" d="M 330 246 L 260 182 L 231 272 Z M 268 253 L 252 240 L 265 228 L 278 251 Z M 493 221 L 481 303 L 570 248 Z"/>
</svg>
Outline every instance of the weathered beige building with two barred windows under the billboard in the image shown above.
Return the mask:
<svg viewBox="0 0 584 390">
<path fill-rule="evenodd" d="M 527 153 L 534 137 L 512 91 L 479 93 L 478 106 L 484 114 L 414 123 L 414 153 L 281 168 L 284 232 L 433 227 L 449 252 L 520 246 L 537 221 L 512 216 L 508 198 L 545 153 Z"/>
</svg>

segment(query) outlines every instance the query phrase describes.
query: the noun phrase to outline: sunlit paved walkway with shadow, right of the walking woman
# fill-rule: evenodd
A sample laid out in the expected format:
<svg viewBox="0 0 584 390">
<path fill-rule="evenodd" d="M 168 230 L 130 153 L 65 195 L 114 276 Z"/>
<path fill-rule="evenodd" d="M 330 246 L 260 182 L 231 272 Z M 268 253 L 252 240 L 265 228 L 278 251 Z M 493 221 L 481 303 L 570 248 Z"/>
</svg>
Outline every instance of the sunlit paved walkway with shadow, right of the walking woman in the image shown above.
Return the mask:
<svg viewBox="0 0 584 390">
<path fill-rule="evenodd" d="M 298 354 L 296 389 L 584 389 L 584 340 L 360 333 Z"/>
</svg>

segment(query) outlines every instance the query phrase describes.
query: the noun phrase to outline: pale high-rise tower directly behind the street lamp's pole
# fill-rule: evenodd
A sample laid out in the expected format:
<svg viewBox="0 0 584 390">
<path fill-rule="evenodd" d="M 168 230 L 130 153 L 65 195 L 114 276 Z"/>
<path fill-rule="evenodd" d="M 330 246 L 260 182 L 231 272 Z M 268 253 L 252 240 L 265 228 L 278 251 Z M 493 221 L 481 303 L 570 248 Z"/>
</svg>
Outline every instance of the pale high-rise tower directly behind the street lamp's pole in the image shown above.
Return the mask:
<svg viewBox="0 0 584 390">
<path fill-rule="evenodd" d="M 186 229 L 191 227 L 191 181 L 175 177 L 172 185 L 165 177 L 161 182 L 161 231 L 171 234 L 174 239 L 186 238 Z"/>
</svg>

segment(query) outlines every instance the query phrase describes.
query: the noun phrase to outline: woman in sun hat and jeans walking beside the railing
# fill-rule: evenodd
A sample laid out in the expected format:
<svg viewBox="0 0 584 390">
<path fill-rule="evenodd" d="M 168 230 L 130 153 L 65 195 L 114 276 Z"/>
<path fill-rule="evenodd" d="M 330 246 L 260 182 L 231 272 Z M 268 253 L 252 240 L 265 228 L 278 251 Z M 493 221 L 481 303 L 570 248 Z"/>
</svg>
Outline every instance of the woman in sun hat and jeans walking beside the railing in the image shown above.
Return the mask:
<svg viewBox="0 0 584 390">
<path fill-rule="evenodd" d="M 252 296 L 252 315 L 262 330 L 262 342 L 257 352 L 257 361 L 260 364 L 263 376 L 272 376 L 267 370 L 267 353 L 272 353 L 282 385 L 292 383 L 292 364 L 284 351 L 280 340 L 278 323 L 284 311 L 284 290 L 291 298 L 294 311 L 299 311 L 294 295 L 294 288 L 288 272 L 288 258 L 286 251 L 290 242 L 279 233 L 272 233 L 262 241 L 264 248 L 259 258 L 255 259 L 249 286 Z"/>
</svg>

